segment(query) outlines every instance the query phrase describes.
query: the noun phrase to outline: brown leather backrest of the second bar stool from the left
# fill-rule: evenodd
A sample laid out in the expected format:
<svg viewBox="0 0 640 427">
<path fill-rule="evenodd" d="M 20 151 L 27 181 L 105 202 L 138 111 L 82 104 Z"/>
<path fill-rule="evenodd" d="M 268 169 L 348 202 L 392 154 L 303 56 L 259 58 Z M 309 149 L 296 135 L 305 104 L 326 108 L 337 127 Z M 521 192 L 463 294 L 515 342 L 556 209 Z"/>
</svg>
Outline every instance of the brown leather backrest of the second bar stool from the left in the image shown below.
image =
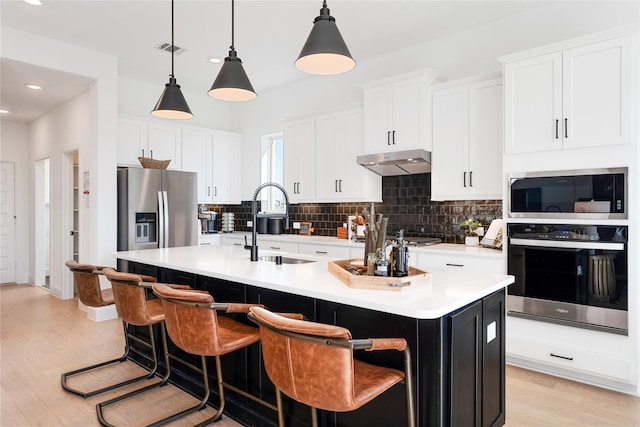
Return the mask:
<svg viewBox="0 0 640 427">
<path fill-rule="evenodd" d="M 122 320 L 136 326 L 155 323 L 147 310 L 147 294 L 145 288 L 140 286 L 140 276 L 121 273 L 109 267 L 105 267 L 102 274 L 111 282 L 116 310 Z"/>
</svg>

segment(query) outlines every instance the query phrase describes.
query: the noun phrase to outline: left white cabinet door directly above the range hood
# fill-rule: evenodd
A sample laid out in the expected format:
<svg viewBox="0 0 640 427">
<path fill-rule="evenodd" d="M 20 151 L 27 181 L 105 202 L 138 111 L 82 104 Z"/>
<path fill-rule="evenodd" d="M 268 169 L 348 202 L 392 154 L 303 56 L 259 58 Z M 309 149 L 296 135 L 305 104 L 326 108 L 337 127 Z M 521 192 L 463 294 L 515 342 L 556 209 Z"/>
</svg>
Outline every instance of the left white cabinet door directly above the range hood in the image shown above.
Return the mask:
<svg viewBox="0 0 640 427">
<path fill-rule="evenodd" d="M 364 91 L 365 153 L 384 153 L 391 150 L 392 102 L 391 85 Z"/>
</svg>

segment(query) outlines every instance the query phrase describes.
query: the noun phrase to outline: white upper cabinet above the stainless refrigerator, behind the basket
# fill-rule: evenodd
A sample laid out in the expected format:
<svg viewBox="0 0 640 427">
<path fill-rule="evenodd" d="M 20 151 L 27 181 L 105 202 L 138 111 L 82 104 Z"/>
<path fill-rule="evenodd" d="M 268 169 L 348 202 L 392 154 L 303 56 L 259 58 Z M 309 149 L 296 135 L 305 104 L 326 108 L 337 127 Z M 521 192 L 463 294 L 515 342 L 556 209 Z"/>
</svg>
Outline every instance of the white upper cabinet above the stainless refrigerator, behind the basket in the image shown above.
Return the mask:
<svg viewBox="0 0 640 427">
<path fill-rule="evenodd" d="M 168 169 L 181 169 L 181 128 L 133 117 L 119 117 L 118 164 L 140 166 L 138 157 L 171 160 Z"/>
</svg>

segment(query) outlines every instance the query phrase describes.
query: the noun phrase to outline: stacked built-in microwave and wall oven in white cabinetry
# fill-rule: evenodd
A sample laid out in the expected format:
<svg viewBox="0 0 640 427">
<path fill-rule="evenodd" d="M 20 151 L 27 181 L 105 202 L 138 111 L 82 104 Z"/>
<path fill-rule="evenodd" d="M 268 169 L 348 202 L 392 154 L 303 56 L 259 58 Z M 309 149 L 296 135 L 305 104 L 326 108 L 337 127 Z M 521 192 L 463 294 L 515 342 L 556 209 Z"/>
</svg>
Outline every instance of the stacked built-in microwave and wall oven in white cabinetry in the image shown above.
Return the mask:
<svg viewBox="0 0 640 427">
<path fill-rule="evenodd" d="M 626 194 L 625 168 L 510 177 L 509 315 L 628 334 Z"/>
</svg>

